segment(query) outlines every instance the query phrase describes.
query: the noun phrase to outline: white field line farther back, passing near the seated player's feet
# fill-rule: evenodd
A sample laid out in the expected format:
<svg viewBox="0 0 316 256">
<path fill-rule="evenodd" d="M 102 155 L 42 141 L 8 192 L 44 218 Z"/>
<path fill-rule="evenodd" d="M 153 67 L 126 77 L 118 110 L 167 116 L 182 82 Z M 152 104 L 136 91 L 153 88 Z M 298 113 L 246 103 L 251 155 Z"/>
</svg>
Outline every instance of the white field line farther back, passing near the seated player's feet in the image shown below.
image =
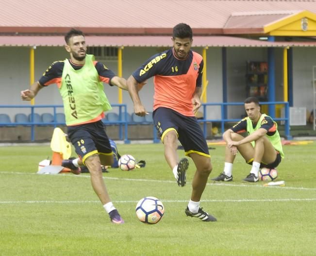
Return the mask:
<svg viewBox="0 0 316 256">
<path fill-rule="evenodd" d="M 0 171 L 0 174 L 16 174 L 16 175 L 49 175 L 49 174 L 37 174 L 37 173 L 27 173 L 27 172 L 14 172 L 14 171 Z M 55 174 L 55 177 L 60 176 L 68 176 L 74 178 L 90 178 L 90 175 L 73 175 L 67 173 Z M 175 183 L 175 181 L 171 180 L 151 180 L 151 179 L 129 179 L 129 178 L 117 178 L 117 177 L 104 177 L 103 179 L 109 180 L 119 180 L 119 181 L 135 181 L 135 182 L 155 182 L 155 183 Z M 191 184 L 187 182 L 187 184 Z M 294 190 L 316 190 L 316 188 L 303 188 L 303 187 L 263 187 L 260 183 L 256 184 L 231 184 L 224 182 L 209 182 L 208 186 L 224 186 L 224 187 L 245 187 L 245 188 L 277 188 L 277 189 L 294 189 Z"/>
</svg>

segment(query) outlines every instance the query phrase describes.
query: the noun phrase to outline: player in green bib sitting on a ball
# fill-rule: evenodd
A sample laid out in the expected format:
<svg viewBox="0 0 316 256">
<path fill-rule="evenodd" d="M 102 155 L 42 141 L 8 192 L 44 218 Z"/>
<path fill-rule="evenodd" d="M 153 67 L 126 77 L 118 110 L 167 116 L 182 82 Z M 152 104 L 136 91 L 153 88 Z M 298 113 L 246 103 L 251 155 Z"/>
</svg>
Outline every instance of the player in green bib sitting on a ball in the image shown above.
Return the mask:
<svg viewBox="0 0 316 256">
<path fill-rule="evenodd" d="M 249 97 L 245 101 L 246 118 L 240 120 L 223 134 L 225 149 L 224 171 L 214 181 L 233 180 L 233 161 L 237 151 L 246 163 L 252 165 L 249 175 L 242 182 L 257 182 L 259 169 L 275 169 L 284 158 L 278 124 L 266 114 L 261 114 L 258 99 Z M 247 132 L 243 137 L 238 133 Z"/>
</svg>

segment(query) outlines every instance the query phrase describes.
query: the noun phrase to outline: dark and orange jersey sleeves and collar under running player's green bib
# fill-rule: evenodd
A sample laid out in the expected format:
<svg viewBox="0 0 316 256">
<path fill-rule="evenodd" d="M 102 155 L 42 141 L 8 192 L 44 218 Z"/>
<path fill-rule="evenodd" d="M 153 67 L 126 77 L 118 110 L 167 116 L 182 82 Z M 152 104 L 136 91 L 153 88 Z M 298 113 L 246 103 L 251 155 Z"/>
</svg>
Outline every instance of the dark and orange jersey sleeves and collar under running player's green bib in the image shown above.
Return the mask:
<svg viewBox="0 0 316 256">
<path fill-rule="evenodd" d="M 75 65 L 70 60 L 68 61 L 75 70 L 83 67 L 83 65 Z M 111 85 L 111 79 L 116 75 L 110 69 L 105 67 L 101 62 L 94 61 L 93 64 L 98 71 L 100 81 Z M 65 60 L 53 62 L 50 67 L 46 69 L 43 76 L 39 79 L 39 83 L 42 86 L 57 84 L 58 87 L 60 87 L 62 83 L 64 65 Z"/>
</svg>

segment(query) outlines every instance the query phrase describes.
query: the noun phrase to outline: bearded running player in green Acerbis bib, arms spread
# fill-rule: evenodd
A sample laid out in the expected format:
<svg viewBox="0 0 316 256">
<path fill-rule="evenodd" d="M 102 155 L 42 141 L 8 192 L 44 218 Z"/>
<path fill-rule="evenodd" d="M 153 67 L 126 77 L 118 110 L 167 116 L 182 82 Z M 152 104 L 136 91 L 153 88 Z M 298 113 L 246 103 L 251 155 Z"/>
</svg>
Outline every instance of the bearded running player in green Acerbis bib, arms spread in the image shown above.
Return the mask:
<svg viewBox="0 0 316 256">
<path fill-rule="evenodd" d="M 65 41 L 70 58 L 53 62 L 31 89 L 21 91 L 21 98 L 31 101 L 40 89 L 57 84 L 64 102 L 67 133 L 79 155 L 77 159 L 64 160 L 62 165 L 77 174 L 80 166 L 85 165 L 92 187 L 111 222 L 121 224 L 124 221 L 112 204 L 102 178 L 101 165 L 113 163 L 111 145 L 102 123 L 104 111 L 112 107 L 103 91 L 103 83 L 127 90 L 126 80 L 95 61 L 93 55 L 86 54 L 82 31 L 71 29 Z"/>
</svg>

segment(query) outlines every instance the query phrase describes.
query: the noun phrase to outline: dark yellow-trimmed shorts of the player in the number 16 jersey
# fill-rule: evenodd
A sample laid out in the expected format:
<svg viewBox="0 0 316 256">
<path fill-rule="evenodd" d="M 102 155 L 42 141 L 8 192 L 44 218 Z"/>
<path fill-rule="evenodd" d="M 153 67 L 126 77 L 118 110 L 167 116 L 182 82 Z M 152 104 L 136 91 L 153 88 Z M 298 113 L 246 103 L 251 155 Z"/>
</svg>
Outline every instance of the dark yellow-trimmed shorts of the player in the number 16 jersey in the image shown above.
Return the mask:
<svg viewBox="0 0 316 256">
<path fill-rule="evenodd" d="M 195 117 L 186 117 L 171 108 L 159 107 L 153 112 L 154 125 L 161 137 L 175 130 L 185 155 L 196 153 L 210 157 L 202 129 Z"/>
</svg>

